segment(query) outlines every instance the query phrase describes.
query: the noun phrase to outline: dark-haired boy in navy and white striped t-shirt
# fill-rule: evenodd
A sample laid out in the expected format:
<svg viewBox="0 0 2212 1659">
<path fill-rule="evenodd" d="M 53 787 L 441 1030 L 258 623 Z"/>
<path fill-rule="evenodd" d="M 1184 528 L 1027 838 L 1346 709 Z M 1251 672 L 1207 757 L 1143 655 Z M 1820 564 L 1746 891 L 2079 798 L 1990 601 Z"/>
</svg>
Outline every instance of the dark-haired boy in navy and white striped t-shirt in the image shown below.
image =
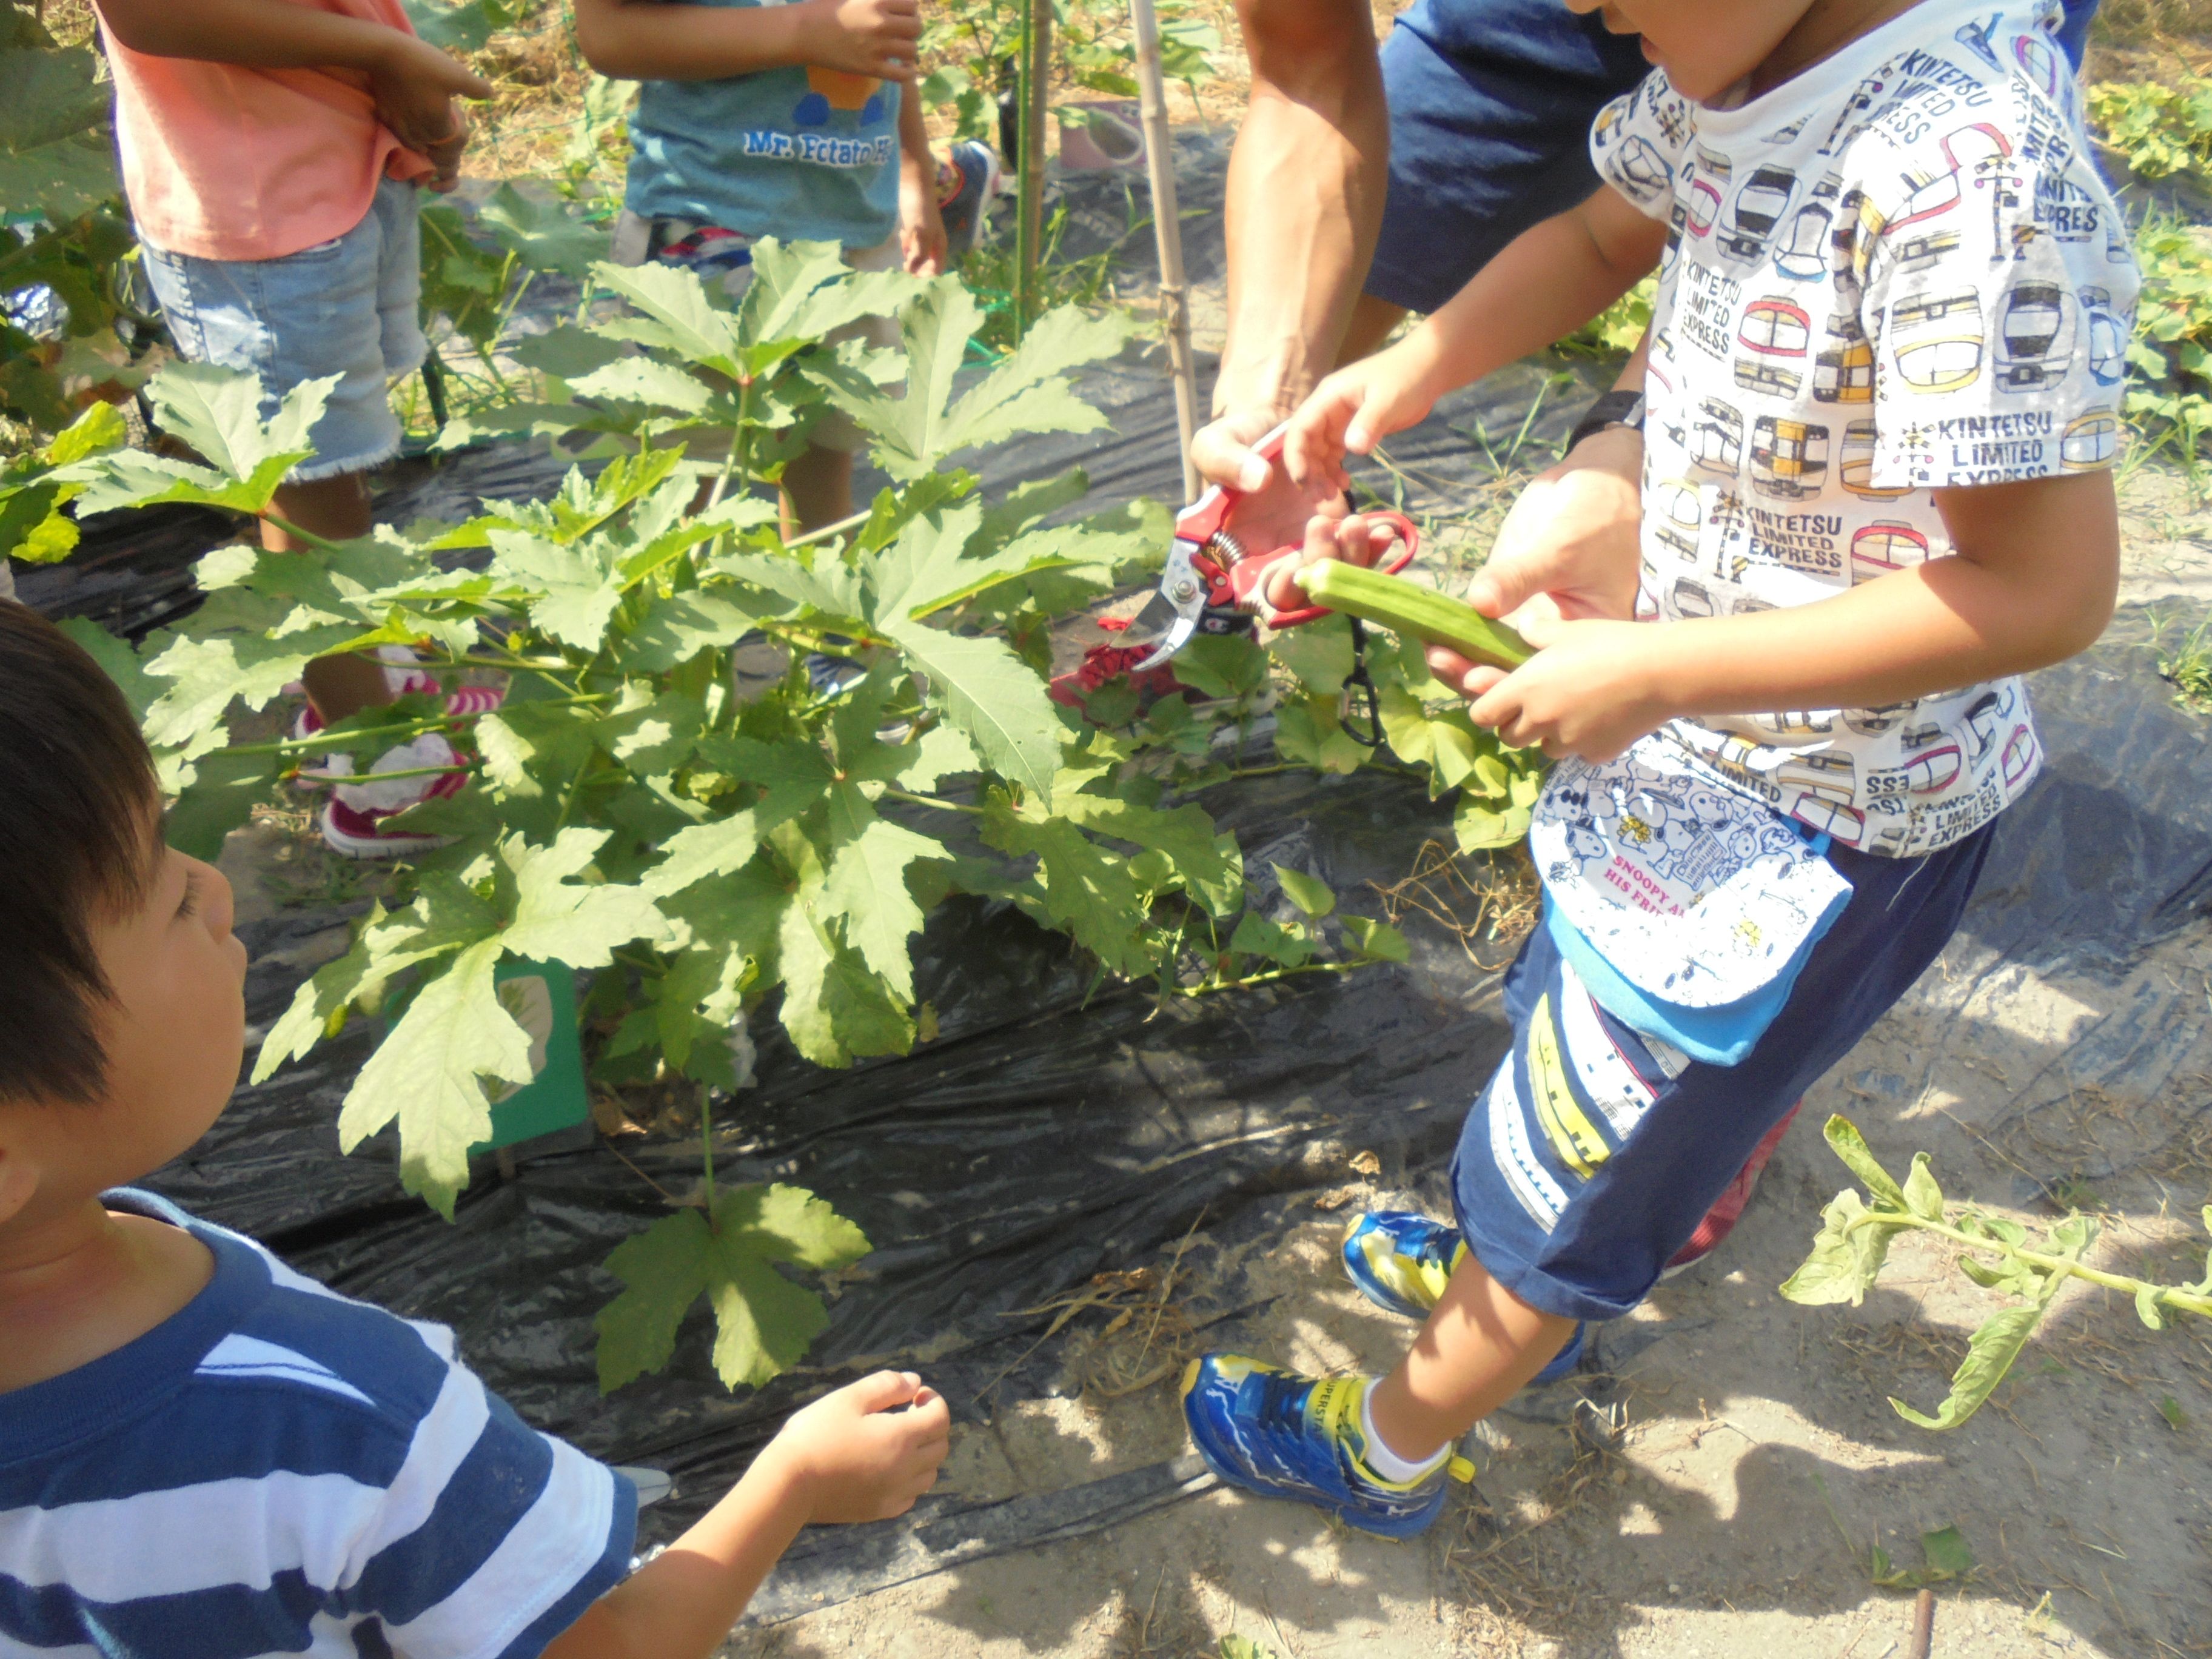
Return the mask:
<svg viewBox="0 0 2212 1659">
<path fill-rule="evenodd" d="M 936 1480 L 945 1400 L 878 1371 L 630 1573 L 628 1480 L 451 1332 L 124 1186 L 223 1110 L 243 980 L 122 695 L 0 604 L 0 1648 L 706 1659 L 801 1526 Z"/>
</svg>

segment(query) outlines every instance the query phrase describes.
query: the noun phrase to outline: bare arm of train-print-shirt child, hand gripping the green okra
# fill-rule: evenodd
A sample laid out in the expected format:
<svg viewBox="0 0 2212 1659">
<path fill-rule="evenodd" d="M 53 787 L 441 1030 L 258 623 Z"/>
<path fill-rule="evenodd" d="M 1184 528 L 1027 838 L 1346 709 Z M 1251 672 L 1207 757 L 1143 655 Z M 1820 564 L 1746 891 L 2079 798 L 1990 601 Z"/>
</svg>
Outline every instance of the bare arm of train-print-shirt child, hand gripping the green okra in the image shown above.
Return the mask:
<svg viewBox="0 0 2212 1659">
<path fill-rule="evenodd" d="M 1816 604 L 1692 622 L 1553 622 L 1500 675 L 1431 650 L 1509 743 L 1604 761 L 1677 714 L 1878 708 L 2086 650 L 2112 619 L 2119 509 L 2110 473 L 1938 489 L 1953 557 Z"/>
</svg>

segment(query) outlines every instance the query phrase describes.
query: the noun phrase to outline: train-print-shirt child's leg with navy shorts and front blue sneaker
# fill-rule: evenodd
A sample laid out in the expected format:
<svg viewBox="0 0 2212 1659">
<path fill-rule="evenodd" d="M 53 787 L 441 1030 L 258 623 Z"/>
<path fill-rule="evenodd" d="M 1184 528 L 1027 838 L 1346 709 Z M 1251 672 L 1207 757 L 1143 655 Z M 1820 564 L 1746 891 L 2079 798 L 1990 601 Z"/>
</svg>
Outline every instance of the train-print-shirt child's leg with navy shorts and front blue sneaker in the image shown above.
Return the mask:
<svg viewBox="0 0 2212 1659">
<path fill-rule="evenodd" d="M 1192 1360 L 1183 1420 L 1214 1473 L 1374 1533 L 1427 1526 L 1444 1502 L 1444 1449 L 1533 1378 L 1575 1321 L 1644 1301 L 1765 1135 L 1936 960 L 1989 838 L 1984 827 L 1911 860 L 1832 854 L 1851 902 L 1739 1066 L 1694 1062 L 1619 1024 L 1537 927 L 1506 973 L 1513 1046 L 1453 1157 L 1467 1254 L 1411 1354 L 1376 1380 L 1241 1354 Z M 1360 1290 L 1416 1312 L 1391 1274 L 1363 1279 L 1358 1243 L 1354 1230 L 1345 1256 Z M 1433 1243 L 1420 1245 L 1422 1263 L 1455 1252 Z"/>
</svg>

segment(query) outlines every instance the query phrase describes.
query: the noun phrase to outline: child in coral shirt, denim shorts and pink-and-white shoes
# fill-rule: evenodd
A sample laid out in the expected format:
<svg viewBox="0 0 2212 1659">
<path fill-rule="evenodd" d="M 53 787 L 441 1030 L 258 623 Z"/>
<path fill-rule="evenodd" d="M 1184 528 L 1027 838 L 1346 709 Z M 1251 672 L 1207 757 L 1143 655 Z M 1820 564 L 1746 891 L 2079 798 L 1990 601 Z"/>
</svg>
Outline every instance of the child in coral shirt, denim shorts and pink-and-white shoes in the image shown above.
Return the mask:
<svg viewBox="0 0 2212 1659">
<path fill-rule="evenodd" d="M 418 40 L 400 0 L 97 9 L 124 192 L 170 338 L 195 363 L 257 374 L 263 418 L 303 380 L 336 376 L 314 458 L 276 489 L 274 511 L 325 540 L 367 535 L 367 471 L 400 447 L 387 387 L 427 352 L 416 190 L 453 188 L 467 144 L 453 100 L 491 86 Z M 288 551 L 294 538 L 263 520 L 261 544 Z M 405 666 L 323 657 L 305 690 L 299 734 L 436 686 Z M 453 759 L 442 737 L 431 748 L 394 765 Z M 323 836 L 354 858 L 436 845 L 378 825 L 445 783 L 341 785 Z"/>
</svg>

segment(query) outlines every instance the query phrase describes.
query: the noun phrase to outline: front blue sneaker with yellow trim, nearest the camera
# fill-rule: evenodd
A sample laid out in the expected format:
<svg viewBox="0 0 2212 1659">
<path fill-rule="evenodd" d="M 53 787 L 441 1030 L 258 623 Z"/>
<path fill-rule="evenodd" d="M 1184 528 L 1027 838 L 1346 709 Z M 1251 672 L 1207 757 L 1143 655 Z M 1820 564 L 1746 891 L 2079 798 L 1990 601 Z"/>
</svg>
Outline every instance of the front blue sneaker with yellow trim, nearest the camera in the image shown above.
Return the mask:
<svg viewBox="0 0 2212 1659">
<path fill-rule="evenodd" d="M 1367 1469 L 1360 1400 L 1374 1378 L 1298 1376 L 1241 1354 L 1208 1354 L 1183 1371 L 1183 1422 L 1206 1467 L 1261 1498 L 1318 1504 L 1363 1533 L 1413 1537 L 1444 1506 L 1449 1480 L 1473 1480 L 1447 1458 L 1420 1480 Z"/>
</svg>

